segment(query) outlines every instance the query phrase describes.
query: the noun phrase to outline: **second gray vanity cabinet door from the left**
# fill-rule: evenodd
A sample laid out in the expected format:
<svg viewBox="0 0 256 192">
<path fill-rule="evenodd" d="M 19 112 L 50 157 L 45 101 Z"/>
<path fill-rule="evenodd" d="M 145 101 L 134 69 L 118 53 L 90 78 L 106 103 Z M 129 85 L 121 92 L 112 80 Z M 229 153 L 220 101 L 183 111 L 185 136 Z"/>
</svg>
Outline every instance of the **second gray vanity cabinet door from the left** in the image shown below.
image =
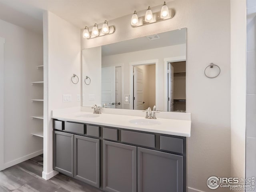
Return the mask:
<svg viewBox="0 0 256 192">
<path fill-rule="evenodd" d="M 74 136 L 74 177 L 100 187 L 100 140 Z"/>
</svg>

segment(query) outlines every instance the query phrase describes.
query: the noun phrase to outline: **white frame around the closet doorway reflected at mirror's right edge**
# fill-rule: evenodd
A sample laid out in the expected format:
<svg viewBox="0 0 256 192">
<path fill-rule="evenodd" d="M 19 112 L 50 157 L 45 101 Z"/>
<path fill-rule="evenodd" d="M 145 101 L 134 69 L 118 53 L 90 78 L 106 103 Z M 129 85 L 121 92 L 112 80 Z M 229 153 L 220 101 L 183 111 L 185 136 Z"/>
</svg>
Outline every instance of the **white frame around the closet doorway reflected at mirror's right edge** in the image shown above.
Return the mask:
<svg viewBox="0 0 256 192">
<path fill-rule="evenodd" d="M 186 61 L 186 55 L 179 57 L 169 57 L 164 58 L 164 111 L 168 111 L 168 63 L 172 62 L 180 62 Z M 186 70 L 187 70 L 187 62 L 186 62 Z M 186 84 L 186 92 L 187 92 L 187 84 Z M 168 111 L 169 112 L 169 111 Z"/>
</svg>

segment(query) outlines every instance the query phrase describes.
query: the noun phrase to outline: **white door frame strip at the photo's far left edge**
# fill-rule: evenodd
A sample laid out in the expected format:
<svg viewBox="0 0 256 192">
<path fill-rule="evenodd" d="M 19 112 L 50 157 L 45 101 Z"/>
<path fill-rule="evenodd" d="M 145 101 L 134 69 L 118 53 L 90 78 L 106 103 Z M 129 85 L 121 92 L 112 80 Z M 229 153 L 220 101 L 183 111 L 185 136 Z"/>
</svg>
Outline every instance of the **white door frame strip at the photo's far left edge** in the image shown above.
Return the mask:
<svg viewBox="0 0 256 192">
<path fill-rule="evenodd" d="M 4 169 L 4 44 L 5 39 L 0 37 L 0 171 Z"/>
</svg>

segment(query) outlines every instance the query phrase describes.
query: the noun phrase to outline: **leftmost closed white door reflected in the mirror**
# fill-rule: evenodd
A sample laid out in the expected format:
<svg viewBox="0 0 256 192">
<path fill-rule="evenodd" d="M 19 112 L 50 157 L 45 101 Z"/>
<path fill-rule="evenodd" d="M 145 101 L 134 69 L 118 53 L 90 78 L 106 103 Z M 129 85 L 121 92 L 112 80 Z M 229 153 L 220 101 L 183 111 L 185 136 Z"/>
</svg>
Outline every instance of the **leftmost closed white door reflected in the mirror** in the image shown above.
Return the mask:
<svg viewBox="0 0 256 192">
<path fill-rule="evenodd" d="M 108 108 L 115 108 L 115 67 L 102 67 L 101 69 L 101 104 Z"/>
</svg>

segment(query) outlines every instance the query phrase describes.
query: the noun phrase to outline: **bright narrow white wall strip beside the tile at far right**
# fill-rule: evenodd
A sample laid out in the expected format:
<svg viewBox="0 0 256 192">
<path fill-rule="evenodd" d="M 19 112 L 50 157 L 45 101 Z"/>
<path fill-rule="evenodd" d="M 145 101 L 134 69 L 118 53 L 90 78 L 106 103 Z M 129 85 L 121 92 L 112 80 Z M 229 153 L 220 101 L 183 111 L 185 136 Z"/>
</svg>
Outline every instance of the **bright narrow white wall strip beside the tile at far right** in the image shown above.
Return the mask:
<svg viewBox="0 0 256 192">
<path fill-rule="evenodd" d="M 231 0 L 231 174 L 245 177 L 246 0 Z"/>
</svg>

